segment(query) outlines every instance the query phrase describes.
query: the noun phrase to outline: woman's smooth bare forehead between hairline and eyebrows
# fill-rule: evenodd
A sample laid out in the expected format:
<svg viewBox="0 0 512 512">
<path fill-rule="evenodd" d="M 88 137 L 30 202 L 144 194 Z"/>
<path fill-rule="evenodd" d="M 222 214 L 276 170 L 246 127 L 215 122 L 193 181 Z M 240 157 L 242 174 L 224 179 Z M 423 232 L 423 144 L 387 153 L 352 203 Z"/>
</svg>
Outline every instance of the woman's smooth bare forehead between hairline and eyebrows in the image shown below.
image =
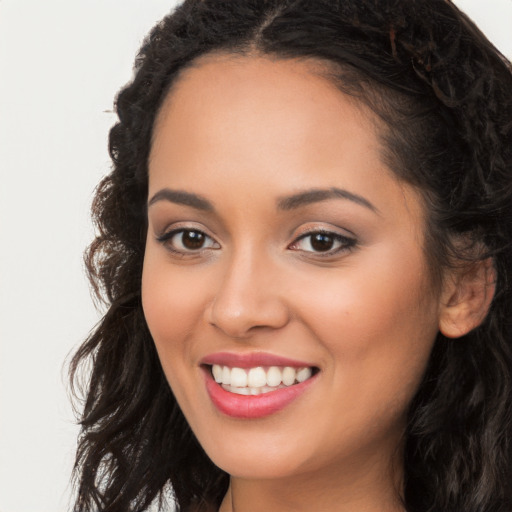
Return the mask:
<svg viewBox="0 0 512 512">
<path fill-rule="evenodd" d="M 275 198 L 343 187 L 394 205 L 407 186 L 383 163 L 376 116 L 325 71 L 312 61 L 266 57 L 195 62 L 155 124 L 150 189 L 192 186 L 224 198 L 236 190 L 249 199 L 258 191 Z"/>
</svg>

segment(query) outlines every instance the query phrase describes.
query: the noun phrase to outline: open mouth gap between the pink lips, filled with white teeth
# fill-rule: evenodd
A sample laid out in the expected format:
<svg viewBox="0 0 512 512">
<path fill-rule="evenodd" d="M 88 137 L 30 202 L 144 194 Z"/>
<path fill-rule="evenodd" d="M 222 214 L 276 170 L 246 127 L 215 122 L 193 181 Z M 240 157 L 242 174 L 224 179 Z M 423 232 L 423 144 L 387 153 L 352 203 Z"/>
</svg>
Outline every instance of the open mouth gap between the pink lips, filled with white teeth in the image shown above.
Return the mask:
<svg viewBox="0 0 512 512">
<path fill-rule="evenodd" d="M 210 372 L 225 391 L 256 396 L 300 384 L 318 373 L 318 369 L 292 366 L 237 368 L 213 364 Z"/>
</svg>

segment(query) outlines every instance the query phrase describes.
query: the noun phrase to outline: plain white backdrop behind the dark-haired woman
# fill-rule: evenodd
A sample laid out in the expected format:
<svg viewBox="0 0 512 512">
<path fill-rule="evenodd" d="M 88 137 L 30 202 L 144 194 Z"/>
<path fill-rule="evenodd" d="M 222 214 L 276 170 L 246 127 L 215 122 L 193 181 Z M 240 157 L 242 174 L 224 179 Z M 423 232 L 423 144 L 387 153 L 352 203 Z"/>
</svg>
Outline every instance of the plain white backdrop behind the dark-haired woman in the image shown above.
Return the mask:
<svg viewBox="0 0 512 512">
<path fill-rule="evenodd" d="M 100 315 L 82 263 L 89 206 L 116 91 L 176 3 L 0 0 L 0 512 L 70 510 L 64 364 Z M 512 58 L 512 0 L 456 3 Z"/>
</svg>

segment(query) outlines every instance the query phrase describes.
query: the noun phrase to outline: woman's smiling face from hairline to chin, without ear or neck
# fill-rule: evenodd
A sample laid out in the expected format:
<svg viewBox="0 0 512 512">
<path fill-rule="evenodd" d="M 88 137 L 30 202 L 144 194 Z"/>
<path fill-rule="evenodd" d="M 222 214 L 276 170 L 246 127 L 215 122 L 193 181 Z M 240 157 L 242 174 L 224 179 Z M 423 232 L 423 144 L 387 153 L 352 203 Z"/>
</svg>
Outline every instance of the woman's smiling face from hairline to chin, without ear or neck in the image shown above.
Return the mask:
<svg viewBox="0 0 512 512">
<path fill-rule="evenodd" d="M 203 58 L 163 106 L 144 312 L 232 475 L 363 474 L 397 453 L 441 306 L 421 201 L 380 151 L 371 115 L 311 64 Z"/>
</svg>

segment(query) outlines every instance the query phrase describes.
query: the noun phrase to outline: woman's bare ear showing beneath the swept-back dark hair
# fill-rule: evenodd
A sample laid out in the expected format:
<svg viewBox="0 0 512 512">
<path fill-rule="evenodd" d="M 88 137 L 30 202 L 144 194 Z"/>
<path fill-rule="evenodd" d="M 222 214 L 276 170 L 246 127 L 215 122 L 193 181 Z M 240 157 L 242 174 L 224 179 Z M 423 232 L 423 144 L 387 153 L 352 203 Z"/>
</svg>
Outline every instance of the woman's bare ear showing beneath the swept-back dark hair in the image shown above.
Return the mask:
<svg viewBox="0 0 512 512">
<path fill-rule="evenodd" d="M 449 272 L 441 297 L 439 330 L 447 338 L 459 338 L 484 321 L 496 289 L 496 270 L 492 258 L 487 258 Z"/>
</svg>

